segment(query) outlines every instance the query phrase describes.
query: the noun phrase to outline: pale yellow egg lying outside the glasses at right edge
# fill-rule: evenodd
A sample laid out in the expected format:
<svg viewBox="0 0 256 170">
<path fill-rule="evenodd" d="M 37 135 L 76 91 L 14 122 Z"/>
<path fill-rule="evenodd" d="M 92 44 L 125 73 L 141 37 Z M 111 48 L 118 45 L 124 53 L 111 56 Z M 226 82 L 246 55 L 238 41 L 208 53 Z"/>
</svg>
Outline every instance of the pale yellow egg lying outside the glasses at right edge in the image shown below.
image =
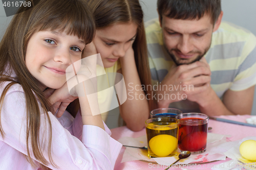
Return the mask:
<svg viewBox="0 0 256 170">
<path fill-rule="evenodd" d="M 256 141 L 245 140 L 239 148 L 240 154 L 248 160 L 256 160 Z"/>
</svg>

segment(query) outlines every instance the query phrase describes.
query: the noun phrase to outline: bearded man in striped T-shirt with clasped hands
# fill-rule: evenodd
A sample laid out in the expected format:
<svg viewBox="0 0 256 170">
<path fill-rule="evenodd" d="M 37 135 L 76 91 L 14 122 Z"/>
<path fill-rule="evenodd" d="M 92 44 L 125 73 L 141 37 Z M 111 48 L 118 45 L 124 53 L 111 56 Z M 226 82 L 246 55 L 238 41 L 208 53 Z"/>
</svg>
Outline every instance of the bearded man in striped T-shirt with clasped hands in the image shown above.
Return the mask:
<svg viewBox="0 0 256 170">
<path fill-rule="evenodd" d="M 220 0 L 158 0 L 157 8 L 159 18 L 145 25 L 158 107 L 250 114 L 256 37 L 222 22 Z"/>
</svg>

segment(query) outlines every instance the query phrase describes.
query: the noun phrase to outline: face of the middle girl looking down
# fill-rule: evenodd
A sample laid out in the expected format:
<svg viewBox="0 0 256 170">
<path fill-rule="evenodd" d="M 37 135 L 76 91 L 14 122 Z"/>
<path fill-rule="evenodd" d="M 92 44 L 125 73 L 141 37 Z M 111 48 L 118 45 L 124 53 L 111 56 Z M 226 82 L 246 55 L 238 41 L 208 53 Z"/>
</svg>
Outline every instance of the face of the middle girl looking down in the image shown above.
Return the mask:
<svg viewBox="0 0 256 170">
<path fill-rule="evenodd" d="M 137 28 L 134 22 L 128 22 L 96 30 L 93 42 L 105 68 L 112 67 L 119 57 L 125 55 L 134 42 Z"/>
</svg>

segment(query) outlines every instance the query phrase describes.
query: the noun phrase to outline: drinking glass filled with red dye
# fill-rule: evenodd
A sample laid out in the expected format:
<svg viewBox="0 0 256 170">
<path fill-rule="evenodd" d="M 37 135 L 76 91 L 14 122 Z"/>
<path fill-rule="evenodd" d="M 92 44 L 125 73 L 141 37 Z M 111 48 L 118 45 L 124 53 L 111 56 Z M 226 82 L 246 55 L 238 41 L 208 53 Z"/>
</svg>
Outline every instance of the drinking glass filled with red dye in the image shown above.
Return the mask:
<svg viewBox="0 0 256 170">
<path fill-rule="evenodd" d="M 209 117 L 202 113 L 182 113 L 180 120 L 178 149 L 200 154 L 206 151 Z"/>
</svg>

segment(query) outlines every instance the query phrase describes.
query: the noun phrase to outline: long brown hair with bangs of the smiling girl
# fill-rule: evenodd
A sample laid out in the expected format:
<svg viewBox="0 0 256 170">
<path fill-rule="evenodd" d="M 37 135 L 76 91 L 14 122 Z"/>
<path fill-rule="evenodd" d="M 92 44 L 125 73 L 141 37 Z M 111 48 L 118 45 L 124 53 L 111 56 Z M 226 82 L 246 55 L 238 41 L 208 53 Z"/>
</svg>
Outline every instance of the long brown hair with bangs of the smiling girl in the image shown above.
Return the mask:
<svg viewBox="0 0 256 170">
<path fill-rule="evenodd" d="M 33 8 L 20 8 L 13 17 L 7 31 L 0 43 L 0 85 L 8 82 L 0 97 L 0 118 L 3 101 L 8 89 L 13 84 L 23 87 L 26 96 L 27 109 L 27 160 L 32 166 L 35 164 L 31 154 L 44 165 L 51 163 L 56 167 L 51 156 L 52 124 L 48 111 L 50 105 L 48 100 L 39 88 L 39 82 L 30 74 L 26 67 L 25 57 L 27 44 L 30 37 L 37 31 L 65 31 L 67 34 L 76 35 L 86 44 L 90 43 L 95 34 L 95 24 L 92 13 L 87 4 L 82 0 L 34 0 Z M 22 12 L 24 11 L 24 12 Z M 12 74 L 15 74 L 15 78 Z M 34 95 L 35 94 L 35 95 Z M 49 161 L 42 154 L 40 148 L 40 110 L 37 103 L 44 110 L 46 119 L 49 122 L 48 157 Z M 0 132 L 5 137 L 0 121 Z M 42 139 L 41 139 L 42 140 Z M 29 149 L 32 149 L 32 153 Z M 45 167 L 42 165 L 42 167 Z"/>
</svg>

